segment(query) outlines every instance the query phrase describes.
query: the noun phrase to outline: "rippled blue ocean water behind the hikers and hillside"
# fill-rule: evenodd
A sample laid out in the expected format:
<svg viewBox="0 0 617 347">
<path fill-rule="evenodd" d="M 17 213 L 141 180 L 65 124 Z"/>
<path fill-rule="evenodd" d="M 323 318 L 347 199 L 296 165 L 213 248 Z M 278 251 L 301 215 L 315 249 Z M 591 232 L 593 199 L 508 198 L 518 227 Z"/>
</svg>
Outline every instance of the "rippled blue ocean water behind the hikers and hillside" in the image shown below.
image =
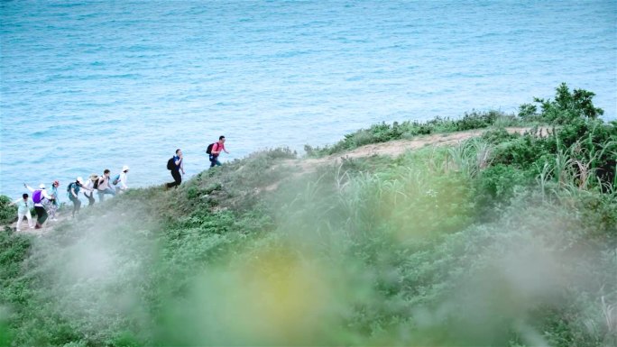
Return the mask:
<svg viewBox="0 0 617 347">
<path fill-rule="evenodd" d="M 515 111 L 560 82 L 617 116 L 617 1 L 3 1 L 0 193 L 188 175 L 382 121 Z"/>
</svg>

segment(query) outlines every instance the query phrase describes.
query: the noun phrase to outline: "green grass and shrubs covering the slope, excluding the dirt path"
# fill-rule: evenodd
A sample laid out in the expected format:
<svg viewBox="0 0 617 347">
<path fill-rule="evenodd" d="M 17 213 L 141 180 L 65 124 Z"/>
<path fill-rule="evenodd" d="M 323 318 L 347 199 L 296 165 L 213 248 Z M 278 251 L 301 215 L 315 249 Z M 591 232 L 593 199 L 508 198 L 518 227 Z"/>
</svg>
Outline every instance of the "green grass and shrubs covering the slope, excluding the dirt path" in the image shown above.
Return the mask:
<svg viewBox="0 0 617 347">
<path fill-rule="evenodd" d="M 256 152 L 41 238 L 6 230 L 0 342 L 617 343 L 617 123 L 596 118 L 592 96 L 559 87 L 539 114 L 427 123 L 487 131 L 398 158 L 303 170 L 289 150 Z M 526 117 L 548 133 L 503 131 Z M 425 125 L 362 132 L 389 141 Z"/>
</svg>

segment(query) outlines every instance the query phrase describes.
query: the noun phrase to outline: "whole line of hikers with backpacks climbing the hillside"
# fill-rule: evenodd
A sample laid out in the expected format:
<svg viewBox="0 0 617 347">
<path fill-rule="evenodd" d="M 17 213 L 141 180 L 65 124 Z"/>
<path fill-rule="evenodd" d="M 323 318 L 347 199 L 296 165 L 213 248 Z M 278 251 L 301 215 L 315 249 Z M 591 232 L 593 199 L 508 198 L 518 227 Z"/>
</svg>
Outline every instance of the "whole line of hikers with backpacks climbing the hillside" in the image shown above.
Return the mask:
<svg viewBox="0 0 617 347">
<path fill-rule="evenodd" d="M 207 146 L 207 154 L 210 160 L 210 168 L 220 166 L 221 162 L 218 161 L 218 156 L 222 151 L 225 151 L 225 136 L 220 136 L 218 142 L 210 143 Z M 171 177 L 173 182 L 167 183 L 165 187 L 177 187 L 182 182 L 182 175 L 184 175 L 184 162 L 182 151 L 176 150 L 175 155 L 168 160 L 167 169 L 171 171 Z M 120 173 L 111 178 L 111 171 L 105 169 L 103 175 L 92 174 L 86 181 L 83 178 L 78 177 L 75 181 L 70 182 L 67 186 L 67 196 L 70 202 L 73 203 L 72 216 L 75 217 L 79 213 L 81 208 L 81 201 L 79 200 L 79 193 L 81 192 L 87 197 L 88 206 L 95 204 L 94 194 L 97 192 L 99 201 L 104 201 L 106 195 L 115 196 L 116 194 L 124 192 L 128 187 L 126 181 L 128 178 L 129 167 L 124 165 Z M 23 184 L 23 187 L 28 189 L 32 193 L 32 199 L 27 193 L 24 193 L 21 198 L 15 200 L 10 205 L 17 205 L 17 225 L 15 230 L 21 231 L 23 218 L 28 221 L 30 229 L 41 229 L 45 221 L 51 218 L 51 221 L 57 221 L 56 218 L 58 208 L 60 207 L 60 181 L 54 180 L 51 183 L 50 189 L 45 187 L 45 184 L 41 183 L 37 189 Z M 34 207 L 36 213 L 36 222 L 32 224 L 32 215 L 30 210 Z"/>
</svg>

